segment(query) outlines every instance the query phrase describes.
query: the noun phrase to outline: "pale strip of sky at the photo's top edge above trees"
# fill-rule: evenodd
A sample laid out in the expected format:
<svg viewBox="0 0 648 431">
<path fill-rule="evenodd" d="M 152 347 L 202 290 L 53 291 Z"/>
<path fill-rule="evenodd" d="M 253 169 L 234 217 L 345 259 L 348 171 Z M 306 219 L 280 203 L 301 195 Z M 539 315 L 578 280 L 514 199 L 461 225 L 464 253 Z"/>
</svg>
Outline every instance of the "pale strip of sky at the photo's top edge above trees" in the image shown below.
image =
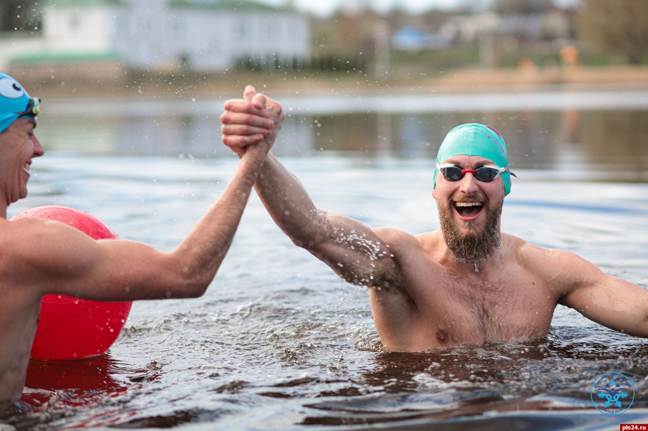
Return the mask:
<svg viewBox="0 0 648 431">
<path fill-rule="evenodd" d="M 289 0 L 257 0 L 260 3 L 269 5 L 283 6 Z M 561 5 L 573 5 L 578 0 L 553 0 L 554 3 Z M 643 1 L 643 0 L 642 0 Z M 316 14 L 318 16 L 330 15 L 334 10 L 340 7 L 341 4 L 354 6 L 369 4 L 376 10 L 384 12 L 389 10 L 394 5 L 401 5 L 402 7 L 410 10 L 411 12 L 421 12 L 432 8 L 439 9 L 452 9 L 457 5 L 465 4 L 487 4 L 490 0 L 292 0 L 293 4 L 303 10 Z"/>
</svg>

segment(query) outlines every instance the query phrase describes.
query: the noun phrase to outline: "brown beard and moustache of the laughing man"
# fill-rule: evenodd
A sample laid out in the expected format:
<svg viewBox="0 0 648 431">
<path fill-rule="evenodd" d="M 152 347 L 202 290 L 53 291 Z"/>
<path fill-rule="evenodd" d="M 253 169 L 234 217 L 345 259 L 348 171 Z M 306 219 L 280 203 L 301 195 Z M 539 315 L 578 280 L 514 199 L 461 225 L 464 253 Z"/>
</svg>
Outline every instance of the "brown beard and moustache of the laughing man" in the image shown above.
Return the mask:
<svg viewBox="0 0 648 431">
<path fill-rule="evenodd" d="M 486 214 L 486 222 L 480 231 L 474 230 L 470 222 L 464 223 L 469 228 L 468 234 L 462 234 L 452 219 L 450 204 L 439 208 L 441 232 L 448 248 L 461 263 L 478 263 L 487 260 L 495 250 L 500 248 L 500 216 L 502 203 Z M 485 208 L 486 210 L 487 208 Z M 460 222 L 463 223 L 463 222 Z"/>
</svg>

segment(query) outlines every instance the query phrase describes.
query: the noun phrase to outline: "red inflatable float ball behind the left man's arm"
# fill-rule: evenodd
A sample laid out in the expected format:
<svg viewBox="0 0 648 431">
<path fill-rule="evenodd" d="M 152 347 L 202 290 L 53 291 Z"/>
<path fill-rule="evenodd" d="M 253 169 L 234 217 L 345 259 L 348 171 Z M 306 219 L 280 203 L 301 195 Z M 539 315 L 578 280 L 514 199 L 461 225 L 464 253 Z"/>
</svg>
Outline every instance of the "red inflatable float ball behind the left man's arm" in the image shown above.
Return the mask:
<svg viewBox="0 0 648 431">
<path fill-rule="evenodd" d="M 102 221 L 82 210 L 61 205 L 37 206 L 23 217 L 58 220 L 94 239 L 118 238 Z M 132 302 L 98 302 L 47 294 L 30 357 L 38 360 L 78 359 L 106 353 L 121 333 Z"/>
</svg>

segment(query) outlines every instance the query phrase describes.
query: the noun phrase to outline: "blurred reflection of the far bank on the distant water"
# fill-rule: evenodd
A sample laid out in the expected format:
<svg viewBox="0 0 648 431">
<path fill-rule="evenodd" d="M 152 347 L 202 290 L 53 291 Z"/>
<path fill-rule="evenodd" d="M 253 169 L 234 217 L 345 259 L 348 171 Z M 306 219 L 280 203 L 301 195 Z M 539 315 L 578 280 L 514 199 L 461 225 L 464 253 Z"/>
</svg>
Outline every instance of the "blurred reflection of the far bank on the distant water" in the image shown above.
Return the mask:
<svg viewBox="0 0 648 431">
<path fill-rule="evenodd" d="M 281 100 L 280 100 L 281 102 Z M 100 106 L 101 103 L 97 102 Z M 124 102 L 126 103 L 126 102 Z M 46 149 L 103 155 L 224 157 L 218 115 L 126 110 L 104 118 L 43 114 L 39 133 Z M 320 114 L 286 109 L 288 117 L 273 151 L 279 156 L 341 151 L 366 159 L 388 154 L 434 159 L 446 133 L 457 124 L 481 122 L 502 133 L 515 168 L 564 171 L 571 178 L 648 181 L 648 97 L 645 107 L 626 109 L 489 109 L 380 113 L 367 110 Z M 64 111 L 65 112 L 65 111 Z M 583 168 L 586 167 L 586 168 Z M 579 169 L 580 171 L 574 171 Z"/>
</svg>

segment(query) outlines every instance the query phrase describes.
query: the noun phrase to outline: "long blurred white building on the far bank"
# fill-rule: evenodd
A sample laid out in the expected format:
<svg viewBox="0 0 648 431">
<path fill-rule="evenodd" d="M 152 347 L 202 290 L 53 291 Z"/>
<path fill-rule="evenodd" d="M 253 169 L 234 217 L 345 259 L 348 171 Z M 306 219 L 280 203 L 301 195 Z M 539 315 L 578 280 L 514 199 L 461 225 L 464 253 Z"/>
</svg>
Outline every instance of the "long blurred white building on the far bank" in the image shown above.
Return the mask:
<svg viewBox="0 0 648 431">
<path fill-rule="evenodd" d="M 292 67 L 310 63 L 310 24 L 251 0 L 48 0 L 40 44 L 19 57 L 103 56 L 147 71 Z M 2 60 L 6 69 L 12 58 Z"/>
</svg>

